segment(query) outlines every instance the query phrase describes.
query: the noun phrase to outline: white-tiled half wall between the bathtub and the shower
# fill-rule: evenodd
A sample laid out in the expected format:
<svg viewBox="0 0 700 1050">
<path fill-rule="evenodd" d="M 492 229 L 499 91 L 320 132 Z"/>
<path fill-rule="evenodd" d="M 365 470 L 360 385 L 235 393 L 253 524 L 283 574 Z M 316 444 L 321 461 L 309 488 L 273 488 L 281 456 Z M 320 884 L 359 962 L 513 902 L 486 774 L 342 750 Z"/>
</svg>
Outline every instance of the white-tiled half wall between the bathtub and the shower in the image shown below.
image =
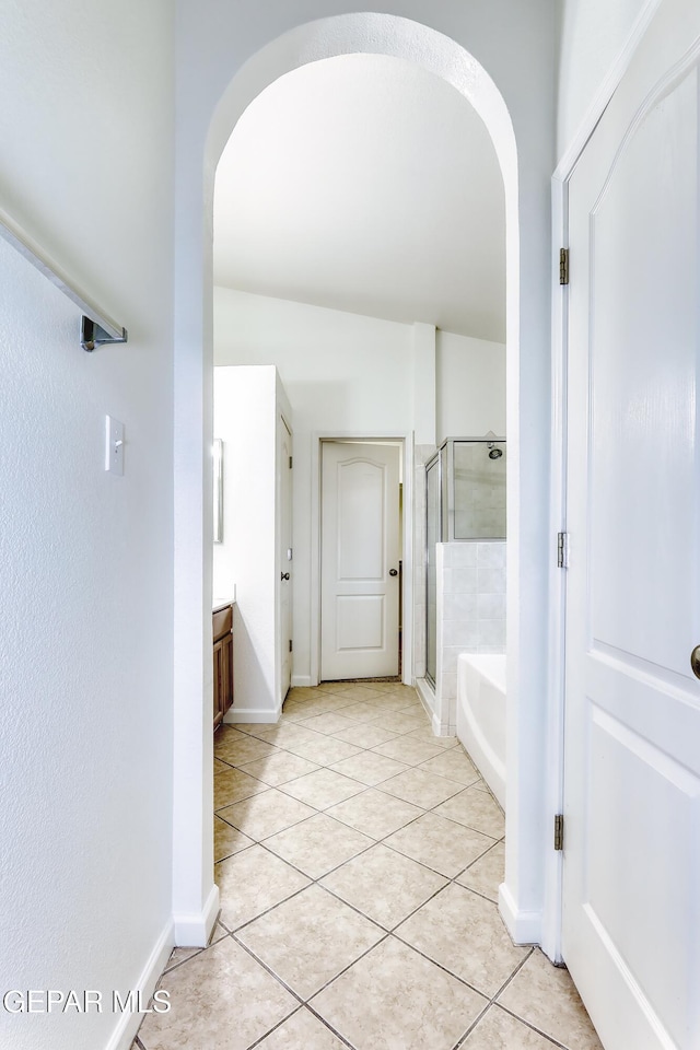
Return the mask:
<svg viewBox="0 0 700 1050">
<path fill-rule="evenodd" d="M 438 544 L 436 556 L 435 692 L 454 701 L 459 653 L 505 652 L 505 541 Z"/>
</svg>

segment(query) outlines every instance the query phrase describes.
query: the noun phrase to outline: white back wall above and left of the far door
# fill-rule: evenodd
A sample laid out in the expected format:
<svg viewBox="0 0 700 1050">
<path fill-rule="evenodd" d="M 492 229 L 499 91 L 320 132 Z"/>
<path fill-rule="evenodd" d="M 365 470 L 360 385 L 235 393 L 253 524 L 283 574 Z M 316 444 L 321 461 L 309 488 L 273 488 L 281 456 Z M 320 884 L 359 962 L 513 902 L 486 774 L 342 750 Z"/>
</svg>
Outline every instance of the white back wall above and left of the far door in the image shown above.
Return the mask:
<svg viewBox="0 0 700 1050">
<path fill-rule="evenodd" d="M 311 675 L 313 435 L 412 430 L 411 332 L 396 322 L 215 289 L 217 365 L 276 364 L 292 408 L 296 685 Z"/>
</svg>

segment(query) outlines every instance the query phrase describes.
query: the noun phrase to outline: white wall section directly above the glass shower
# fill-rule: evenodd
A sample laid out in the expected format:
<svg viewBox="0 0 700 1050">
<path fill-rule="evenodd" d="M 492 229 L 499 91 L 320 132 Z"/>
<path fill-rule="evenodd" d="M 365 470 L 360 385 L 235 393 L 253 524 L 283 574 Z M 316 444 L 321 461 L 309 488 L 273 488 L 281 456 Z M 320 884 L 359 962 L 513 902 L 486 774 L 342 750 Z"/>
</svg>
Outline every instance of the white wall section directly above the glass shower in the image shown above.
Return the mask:
<svg viewBox="0 0 700 1050">
<path fill-rule="evenodd" d="M 438 330 L 438 444 L 445 438 L 505 434 L 505 347 Z"/>
</svg>

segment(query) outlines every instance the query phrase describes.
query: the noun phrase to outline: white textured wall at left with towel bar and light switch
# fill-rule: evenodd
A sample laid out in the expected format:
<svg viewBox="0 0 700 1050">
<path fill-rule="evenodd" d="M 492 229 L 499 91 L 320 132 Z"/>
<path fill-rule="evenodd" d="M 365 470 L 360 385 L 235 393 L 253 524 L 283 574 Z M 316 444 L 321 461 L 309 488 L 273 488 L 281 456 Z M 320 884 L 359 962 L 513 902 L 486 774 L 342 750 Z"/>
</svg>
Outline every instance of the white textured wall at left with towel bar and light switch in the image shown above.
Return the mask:
<svg viewBox="0 0 700 1050">
<path fill-rule="evenodd" d="M 85 353 L 78 310 L 0 242 L 3 991 L 127 991 L 167 952 L 172 48 L 166 0 L 3 5 L 2 206 L 130 332 Z M 101 1050 L 138 1020 L 0 1011 L 0 1043 Z"/>
</svg>

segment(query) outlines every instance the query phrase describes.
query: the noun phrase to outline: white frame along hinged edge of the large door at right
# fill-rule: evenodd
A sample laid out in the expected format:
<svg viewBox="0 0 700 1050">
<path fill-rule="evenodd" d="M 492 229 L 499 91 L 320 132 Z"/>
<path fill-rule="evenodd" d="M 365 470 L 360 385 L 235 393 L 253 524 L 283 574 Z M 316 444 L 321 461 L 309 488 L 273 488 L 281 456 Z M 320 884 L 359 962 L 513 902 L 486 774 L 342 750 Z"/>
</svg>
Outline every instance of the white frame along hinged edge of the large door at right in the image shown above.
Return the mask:
<svg viewBox="0 0 700 1050">
<path fill-rule="evenodd" d="M 549 568 L 549 669 L 547 689 L 547 819 L 564 803 L 564 712 L 567 571 L 557 564 L 557 534 L 567 532 L 567 394 L 569 361 L 569 293 L 559 281 L 559 253 L 569 246 L 569 184 L 588 139 L 617 91 L 662 0 L 646 0 L 620 52 L 610 66 L 598 93 L 573 141 L 562 155 L 551 179 L 552 194 L 552 301 L 551 301 L 551 451 L 550 451 L 550 568 Z M 575 260 L 573 260 L 575 272 Z M 556 962 L 562 961 L 563 852 L 551 849 L 545 859 L 545 909 L 541 947 Z"/>
</svg>

